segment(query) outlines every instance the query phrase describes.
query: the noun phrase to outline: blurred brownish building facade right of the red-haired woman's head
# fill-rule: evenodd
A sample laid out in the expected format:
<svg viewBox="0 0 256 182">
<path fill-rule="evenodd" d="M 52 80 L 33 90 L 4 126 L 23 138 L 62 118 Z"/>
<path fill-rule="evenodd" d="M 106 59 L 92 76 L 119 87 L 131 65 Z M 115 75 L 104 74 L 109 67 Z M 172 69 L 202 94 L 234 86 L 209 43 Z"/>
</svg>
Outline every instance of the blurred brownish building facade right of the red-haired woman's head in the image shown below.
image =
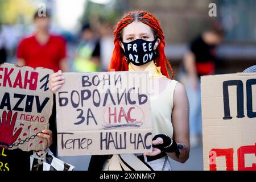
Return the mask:
<svg viewBox="0 0 256 182">
<path fill-rule="evenodd" d="M 209 4 L 216 3 L 217 17 L 209 16 Z M 256 1 L 253 0 L 127 0 L 129 10 L 153 13 L 166 37 L 166 55 L 179 71 L 188 43 L 217 20 L 225 30 L 217 54 L 222 60 L 217 74 L 242 72 L 256 62 Z"/>
</svg>

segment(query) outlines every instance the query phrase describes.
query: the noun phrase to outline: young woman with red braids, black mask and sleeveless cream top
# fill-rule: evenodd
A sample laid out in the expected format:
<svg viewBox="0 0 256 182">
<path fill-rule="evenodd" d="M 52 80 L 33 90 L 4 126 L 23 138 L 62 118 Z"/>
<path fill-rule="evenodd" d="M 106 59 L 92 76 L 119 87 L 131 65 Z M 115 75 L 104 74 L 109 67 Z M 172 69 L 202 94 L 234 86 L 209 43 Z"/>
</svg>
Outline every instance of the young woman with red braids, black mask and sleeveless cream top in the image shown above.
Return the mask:
<svg viewBox="0 0 256 182">
<path fill-rule="evenodd" d="M 148 71 L 154 85 L 150 89 L 153 150 L 109 158 L 92 156 L 89 170 L 171 170 L 168 156 L 180 163 L 189 157 L 189 104 L 184 86 L 173 80 L 160 23 L 146 11 L 127 13 L 115 27 L 114 46 L 109 71 Z M 63 83 L 59 71 L 51 76 L 49 88 L 55 93 Z"/>
</svg>

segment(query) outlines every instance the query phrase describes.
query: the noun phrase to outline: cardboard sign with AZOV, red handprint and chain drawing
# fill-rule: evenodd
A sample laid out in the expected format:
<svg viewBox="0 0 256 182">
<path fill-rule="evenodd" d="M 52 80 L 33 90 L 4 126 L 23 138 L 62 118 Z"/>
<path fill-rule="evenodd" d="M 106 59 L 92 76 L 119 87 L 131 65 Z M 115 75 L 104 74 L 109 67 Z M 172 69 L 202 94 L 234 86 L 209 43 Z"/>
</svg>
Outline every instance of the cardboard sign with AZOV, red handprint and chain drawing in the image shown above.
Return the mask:
<svg viewBox="0 0 256 182">
<path fill-rule="evenodd" d="M 48 129 L 53 105 L 48 80 L 52 73 L 45 68 L 0 65 L 0 146 L 23 151 L 46 149 L 47 140 L 36 134 Z"/>
</svg>

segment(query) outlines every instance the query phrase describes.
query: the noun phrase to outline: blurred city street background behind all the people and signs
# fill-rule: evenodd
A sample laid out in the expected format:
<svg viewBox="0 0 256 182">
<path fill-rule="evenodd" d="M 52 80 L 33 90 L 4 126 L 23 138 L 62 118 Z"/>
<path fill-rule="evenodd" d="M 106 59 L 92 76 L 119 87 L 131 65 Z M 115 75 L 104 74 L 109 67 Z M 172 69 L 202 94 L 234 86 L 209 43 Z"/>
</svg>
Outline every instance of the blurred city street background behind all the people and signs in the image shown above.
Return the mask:
<svg viewBox="0 0 256 182">
<path fill-rule="evenodd" d="M 189 43 L 212 22 L 225 31 L 224 41 L 217 47 L 216 73 L 242 72 L 256 63 L 256 1 L 254 0 L 0 0 L 0 49 L 6 62 L 16 63 L 17 46 L 33 34 L 33 15 L 46 5 L 51 14 L 52 34 L 67 41 L 68 72 L 75 72 L 75 60 L 81 42 L 81 30 L 90 24 L 93 38 L 100 43 L 100 65 L 106 71 L 113 51 L 113 27 L 123 13 L 146 10 L 159 19 L 166 38 L 166 56 L 180 80 L 181 63 Z M 216 3 L 217 16 L 209 16 L 209 3 Z M 88 168 L 90 156 L 60 157 L 76 167 Z M 174 170 L 203 170 L 203 143 L 193 144 L 189 159 L 172 162 Z"/>
</svg>

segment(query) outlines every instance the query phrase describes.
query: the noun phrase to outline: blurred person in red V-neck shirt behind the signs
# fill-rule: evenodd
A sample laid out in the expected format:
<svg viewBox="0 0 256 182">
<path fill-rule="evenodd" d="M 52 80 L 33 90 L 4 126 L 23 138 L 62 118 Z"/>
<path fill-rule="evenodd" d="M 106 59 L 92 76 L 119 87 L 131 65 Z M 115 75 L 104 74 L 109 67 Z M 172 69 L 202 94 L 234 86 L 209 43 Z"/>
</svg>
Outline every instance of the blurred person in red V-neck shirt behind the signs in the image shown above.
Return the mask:
<svg viewBox="0 0 256 182">
<path fill-rule="evenodd" d="M 44 67 L 57 72 L 68 71 L 66 60 L 66 43 L 61 36 L 49 34 L 49 14 L 39 16 L 36 11 L 34 23 L 36 32 L 34 35 L 21 40 L 18 46 L 17 59 L 19 66 L 32 68 Z"/>
</svg>

